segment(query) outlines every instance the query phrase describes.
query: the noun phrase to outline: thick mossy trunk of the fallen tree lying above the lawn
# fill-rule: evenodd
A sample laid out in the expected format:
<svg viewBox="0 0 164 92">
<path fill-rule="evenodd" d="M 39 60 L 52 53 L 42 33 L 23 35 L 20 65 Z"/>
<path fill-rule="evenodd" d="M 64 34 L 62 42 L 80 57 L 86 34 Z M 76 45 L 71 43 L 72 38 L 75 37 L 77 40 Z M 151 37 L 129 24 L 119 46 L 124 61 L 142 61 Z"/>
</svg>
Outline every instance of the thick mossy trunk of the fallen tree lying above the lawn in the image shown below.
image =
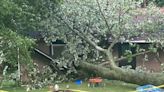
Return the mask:
<svg viewBox="0 0 164 92">
<path fill-rule="evenodd" d="M 122 69 L 119 67 L 116 67 L 111 70 L 109 68 L 104 68 L 102 66 L 93 65 L 87 62 L 81 62 L 79 67 L 82 68 L 83 70 L 96 73 L 103 78 L 121 80 L 128 83 L 134 83 L 139 85 L 164 84 L 164 74 L 160 74 L 160 73 L 138 72 L 132 69 Z"/>
</svg>

